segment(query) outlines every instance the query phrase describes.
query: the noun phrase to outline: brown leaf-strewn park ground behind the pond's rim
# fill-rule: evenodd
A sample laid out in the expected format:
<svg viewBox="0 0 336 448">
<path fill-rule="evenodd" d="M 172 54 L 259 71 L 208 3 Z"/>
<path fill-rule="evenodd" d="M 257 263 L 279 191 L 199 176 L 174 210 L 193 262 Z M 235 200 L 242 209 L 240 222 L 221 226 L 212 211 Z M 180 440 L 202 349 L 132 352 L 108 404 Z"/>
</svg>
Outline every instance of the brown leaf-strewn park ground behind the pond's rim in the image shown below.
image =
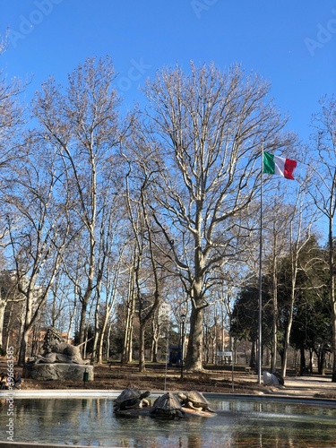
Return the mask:
<svg viewBox="0 0 336 448">
<path fill-rule="evenodd" d="M 0 359 L 0 369 L 5 371 L 5 359 Z M 3 371 L 2 370 L 2 371 Z M 15 366 L 22 372 L 22 368 Z M 181 375 L 183 374 L 183 375 Z M 181 376 L 183 376 L 181 378 Z M 190 373 L 180 367 L 160 363 L 148 363 L 146 372 L 140 373 L 137 365 L 121 365 L 118 362 L 94 366 L 94 380 L 90 382 L 44 381 L 22 378 L 23 390 L 72 390 L 87 389 L 121 391 L 137 387 L 151 392 L 193 391 L 212 393 L 271 394 L 288 397 L 305 397 L 336 400 L 336 383 L 332 375 L 296 375 L 289 370 L 283 386 L 265 386 L 258 383 L 258 376 L 248 372 L 245 366 L 204 366 L 202 373 Z"/>
</svg>

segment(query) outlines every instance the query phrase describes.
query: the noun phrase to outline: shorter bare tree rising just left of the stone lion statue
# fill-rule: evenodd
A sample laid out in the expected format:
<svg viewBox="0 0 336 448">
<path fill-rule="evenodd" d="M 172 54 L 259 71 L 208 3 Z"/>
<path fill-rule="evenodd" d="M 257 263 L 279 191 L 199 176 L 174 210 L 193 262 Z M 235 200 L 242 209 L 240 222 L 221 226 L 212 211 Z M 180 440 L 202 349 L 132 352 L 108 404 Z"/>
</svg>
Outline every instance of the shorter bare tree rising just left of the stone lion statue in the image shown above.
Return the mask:
<svg viewBox="0 0 336 448">
<path fill-rule="evenodd" d="M 25 297 L 19 364 L 25 363 L 30 331 L 46 304 L 61 263 L 67 237 L 64 185 L 56 169 L 56 158 L 28 137 L 25 154 L 12 166 L 11 178 L 2 191 L 19 292 Z"/>
</svg>

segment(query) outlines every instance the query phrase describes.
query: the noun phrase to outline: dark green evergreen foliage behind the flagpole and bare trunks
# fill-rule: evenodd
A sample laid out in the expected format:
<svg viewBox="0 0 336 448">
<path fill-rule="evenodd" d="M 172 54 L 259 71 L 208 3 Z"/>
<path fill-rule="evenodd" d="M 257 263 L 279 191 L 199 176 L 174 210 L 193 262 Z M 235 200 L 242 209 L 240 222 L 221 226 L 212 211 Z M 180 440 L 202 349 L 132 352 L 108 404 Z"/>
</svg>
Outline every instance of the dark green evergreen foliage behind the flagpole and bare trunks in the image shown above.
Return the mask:
<svg viewBox="0 0 336 448">
<path fill-rule="evenodd" d="M 332 313 L 328 288 L 327 250 L 310 237 L 298 259 L 294 320 L 290 344 L 295 349 L 319 353 L 332 346 Z M 283 351 L 284 335 L 289 322 L 292 265 L 291 254 L 278 264 L 278 349 Z M 240 340 L 256 341 L 258 330 L 259 289 L 254 279 L 241 289 L 233 310 L 230 332 Z M 272 279 L 263 276 L 263 346 L 271 347 Z"/>
</svg>

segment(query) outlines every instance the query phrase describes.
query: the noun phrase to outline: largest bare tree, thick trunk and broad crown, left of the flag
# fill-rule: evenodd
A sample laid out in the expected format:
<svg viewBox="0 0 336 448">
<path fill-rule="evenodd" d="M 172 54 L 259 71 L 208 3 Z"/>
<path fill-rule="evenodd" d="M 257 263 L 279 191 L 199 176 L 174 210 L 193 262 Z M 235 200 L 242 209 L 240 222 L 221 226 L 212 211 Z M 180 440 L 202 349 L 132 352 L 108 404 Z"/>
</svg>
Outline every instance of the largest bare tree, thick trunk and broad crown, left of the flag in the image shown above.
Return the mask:
<svg viewBox="0 0 336 448">
<path fill-rule="evenodd" d="M 238 218 L 258 192 L 261 142 L 281 151 L 294 141 L 268 93 L 267 82 L 238 66 L 222 73 L 194 64 L 189 74 L 178 66 L 160 71 L 145 89 L 150 109 L 138 143 L 157 164 L 152 210 L 192 304 L 191 370 L 202 370 L 202 315 L 216 271 L 248 233 Z"/>
</svg>

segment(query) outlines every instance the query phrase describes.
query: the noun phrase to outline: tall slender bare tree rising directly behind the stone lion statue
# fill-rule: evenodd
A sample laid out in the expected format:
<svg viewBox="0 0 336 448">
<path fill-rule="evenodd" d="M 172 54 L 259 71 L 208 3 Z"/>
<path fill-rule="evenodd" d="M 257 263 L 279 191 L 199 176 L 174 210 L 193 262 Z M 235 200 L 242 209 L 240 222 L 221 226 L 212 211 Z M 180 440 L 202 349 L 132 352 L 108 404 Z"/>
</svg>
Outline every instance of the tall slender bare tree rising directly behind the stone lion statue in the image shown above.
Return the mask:
<svg viewBox="0 0 336 448">
<path fill-rule="evenodd" d="M 99 207 L 106 191 L 103 172 L 115 167 L 113 148 L 120 141 L 113 88 L 115 72 L 109 58 L 87 59 L 69 76 L 65 93 L 54 80 L 43 85 L 35 101 L 35 116 L 44 139 L 55 145 L 64 164 L 67 190 L 73 196 L 72 217 L 81 246 L 82 275 L 75 287 L 81 301 L 80 342 L 84 340 L 90 299 L 97 286 L 99 267 Z M 76 240 L 73 240 L 75 243 Z M 81 250 L 82 249 L 82 250 Z"/>
</svg>

